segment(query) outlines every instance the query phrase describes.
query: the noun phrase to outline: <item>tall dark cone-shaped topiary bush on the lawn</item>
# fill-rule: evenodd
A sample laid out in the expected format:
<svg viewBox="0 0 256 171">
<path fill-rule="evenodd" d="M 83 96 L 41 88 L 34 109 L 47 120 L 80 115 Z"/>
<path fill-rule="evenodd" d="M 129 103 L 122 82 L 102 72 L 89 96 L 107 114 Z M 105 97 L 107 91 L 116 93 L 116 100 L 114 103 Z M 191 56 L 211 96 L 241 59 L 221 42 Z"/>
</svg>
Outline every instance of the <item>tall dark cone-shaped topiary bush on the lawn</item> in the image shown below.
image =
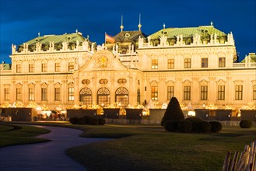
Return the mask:
<svg viewBox="0 0 256 171">
<path fill-rule="evenodd" d="M 181 106 L 176 97 L 170 99 L 170 103 L 167 106 L 161 125 L 164 126 L 167 120 L 184 120 L 184 114 L 181 110 Z"/>
</svg>

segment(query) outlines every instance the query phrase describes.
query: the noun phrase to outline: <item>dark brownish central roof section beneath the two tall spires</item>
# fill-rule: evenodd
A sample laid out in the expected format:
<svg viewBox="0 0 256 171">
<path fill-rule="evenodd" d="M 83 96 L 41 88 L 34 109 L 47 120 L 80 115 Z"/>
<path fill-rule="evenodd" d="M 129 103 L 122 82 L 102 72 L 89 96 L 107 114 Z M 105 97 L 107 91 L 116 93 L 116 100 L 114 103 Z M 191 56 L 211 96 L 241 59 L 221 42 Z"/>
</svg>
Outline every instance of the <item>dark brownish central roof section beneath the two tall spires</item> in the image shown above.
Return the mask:
<svg viewBox="0 0 256 171">
<path fill-rule="evenodd" d="M 141 30 L 136 31 L 121 31 L 120 33 L 117 33 L 117 35 L 114 36 L 114 40 L 116 42 L 132 42 L 132 41 L 138 41 L 139 36 L 146 38 L 146 34 L 142 33 Z"/>
</svg>

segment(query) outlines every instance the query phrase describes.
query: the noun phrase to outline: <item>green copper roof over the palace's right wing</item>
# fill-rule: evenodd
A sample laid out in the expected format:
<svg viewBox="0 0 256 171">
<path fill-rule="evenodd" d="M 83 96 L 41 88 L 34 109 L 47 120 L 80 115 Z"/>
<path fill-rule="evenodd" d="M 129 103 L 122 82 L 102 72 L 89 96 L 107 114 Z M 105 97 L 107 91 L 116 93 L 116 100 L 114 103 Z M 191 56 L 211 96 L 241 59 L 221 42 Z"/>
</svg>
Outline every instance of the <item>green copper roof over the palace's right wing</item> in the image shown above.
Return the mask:
<svg viewBox="0 0 256 171">
<path fill-rule="evenodd" d="M 158 39 L 162 35 L 166 34 L 167 38 L 175 38 L 177 35 L 183 35 L 186 37 L 193 37 L 194 34 L 198 33 L 201 37 L 209 37 L 211 34 L 216 33 L 217 36 L 226 36 L 226 33 L 223 33 L 220 30 L 217 30 L 213 26 L 198 26 L 198 27 L 187 27 L 187 28 L 167 28 L 162 29 L 156 33 L 149 35 L 151 39 Z"/>
</svg>

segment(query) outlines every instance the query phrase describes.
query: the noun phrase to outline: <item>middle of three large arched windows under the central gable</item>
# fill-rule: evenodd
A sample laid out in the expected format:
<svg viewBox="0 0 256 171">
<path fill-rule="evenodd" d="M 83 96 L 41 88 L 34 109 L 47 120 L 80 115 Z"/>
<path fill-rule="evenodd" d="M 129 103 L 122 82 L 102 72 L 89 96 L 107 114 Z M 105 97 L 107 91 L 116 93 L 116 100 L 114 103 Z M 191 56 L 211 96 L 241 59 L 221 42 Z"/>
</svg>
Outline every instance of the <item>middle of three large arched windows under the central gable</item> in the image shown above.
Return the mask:
<svg viewBox="0 0 256 171">
<path fill-rule="evenodd" d="M 100 106 L 110 105 L 110 90 L 103 87 L 97 92 L 97 104 Z"/>
</svg>

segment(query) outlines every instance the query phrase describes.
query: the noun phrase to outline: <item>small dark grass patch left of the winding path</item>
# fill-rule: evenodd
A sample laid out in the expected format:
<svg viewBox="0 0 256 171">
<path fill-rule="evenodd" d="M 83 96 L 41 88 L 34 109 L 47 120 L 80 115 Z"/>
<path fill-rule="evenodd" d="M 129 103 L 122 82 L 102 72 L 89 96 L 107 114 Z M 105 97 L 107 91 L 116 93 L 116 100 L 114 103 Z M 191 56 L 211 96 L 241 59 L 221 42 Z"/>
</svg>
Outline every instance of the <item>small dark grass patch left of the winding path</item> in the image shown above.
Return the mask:
<svg viewBox="0 0 256 171">
<path fill-rule="evenodd" d="M 49 132 L 49 130 L 40 127 L 0 124 L 0 148 L 9 145 L 24 145 L 49 141 L 44 138 L 35 138 L 39 134 Z"/>
</svg>

